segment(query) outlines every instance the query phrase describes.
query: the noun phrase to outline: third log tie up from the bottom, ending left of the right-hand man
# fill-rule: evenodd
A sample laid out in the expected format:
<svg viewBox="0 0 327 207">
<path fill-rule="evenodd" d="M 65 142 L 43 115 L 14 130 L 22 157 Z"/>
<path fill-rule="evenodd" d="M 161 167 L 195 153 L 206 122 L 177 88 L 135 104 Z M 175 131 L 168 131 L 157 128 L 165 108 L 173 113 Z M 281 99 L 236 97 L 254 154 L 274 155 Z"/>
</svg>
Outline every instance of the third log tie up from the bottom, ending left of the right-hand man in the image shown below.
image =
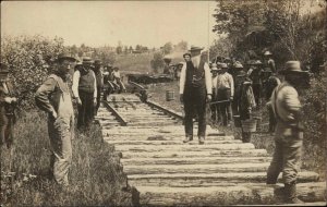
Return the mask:
<svg viewBox="0 0 327 207">
<path fill-rule="evenodd" d="M 218 172 L 266 172 L 269 162 L 262 163 L 221 163 L 221 165 L 146 165 L 124 166 L 126 174 L 162 174 L 162 173 L 218 173 Z"/>
</svg>

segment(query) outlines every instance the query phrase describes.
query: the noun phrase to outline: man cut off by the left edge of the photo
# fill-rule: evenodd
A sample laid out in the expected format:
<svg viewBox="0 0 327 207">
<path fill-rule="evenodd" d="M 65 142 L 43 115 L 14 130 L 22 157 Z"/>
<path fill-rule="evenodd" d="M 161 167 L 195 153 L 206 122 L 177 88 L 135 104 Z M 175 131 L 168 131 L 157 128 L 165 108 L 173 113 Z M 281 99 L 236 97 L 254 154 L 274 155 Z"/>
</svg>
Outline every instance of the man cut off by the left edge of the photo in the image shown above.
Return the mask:
<svg viewBox="0 0 327 207">
<path fill-rule="evenodd" d="M 10 148 L 13 143 L 13 124 L 15 122 L 14 106 L 17 99 L 11 82 L 8 80 L 9 70 L 0 63 L 0 146 Z"/>
</svg>

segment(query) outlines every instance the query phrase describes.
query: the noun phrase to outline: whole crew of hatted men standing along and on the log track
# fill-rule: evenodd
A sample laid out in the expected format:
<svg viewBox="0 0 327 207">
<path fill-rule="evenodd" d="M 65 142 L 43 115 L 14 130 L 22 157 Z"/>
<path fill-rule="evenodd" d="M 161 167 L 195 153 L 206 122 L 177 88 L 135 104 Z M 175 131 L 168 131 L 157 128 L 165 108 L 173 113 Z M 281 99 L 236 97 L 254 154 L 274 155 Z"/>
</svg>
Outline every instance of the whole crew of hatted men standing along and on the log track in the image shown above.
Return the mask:
<svg viewBox="0 0 327 207">
<path fill-rule="evenodd" d="M 283 172 L 284 195 L 288 203 L 301 203 L 295 196 L 296 174 L 301 160 L 303 126 L 301 125 L 301 104 L 298 90 L 307 74 L 301 70 L 299 61 L 288 61 L 279 73 L 283 82 L 279 84 L 271 58 L 266 63 L 256 60 L 245 70 L 240 62 L 215 61 L 210 66 L 201 56 L 203 48 L 192 47 L 183 58 L 180 72 L 180 100 L 184 105 L 185 139 L 193 141 L 193 118 L 198 119 L 198 143 L 205 143 L 206 106 L 211 104 L 213 120 L 223 125 L 231 123 L 232 114 L 241 120 L 253 119 L 252 110 L 261 105 L 263 85 L 267 85 L 271 131 L 275 131 L 276 149 L 267 172 L 267 184 L 275 184 L 278 174 Z M 270 56 L 271 53 L 268 52 Z M 35 94 L 39 109 L 48 113 L 48 131 L 52 148 L 51 169 L 55 180 L 62 186 L 69 185 L 68 173 L 72 161 L 72 136 L 74 110 L 68 74 L 76 60 L 60 54 L 53 63 L 55 72 L 41 84 Z M 1 145 L 10 146 L 10 126 L 14 123 L 10 107 L 17 99 L 13 96 L 8 82 L 8 68 L 1 64 L 0 104 L 1 104 Z M 268 74 L 266 74 L 268 73 Z M 275 81 L 274 81 L 275 80 Z M 111 89 L 123 88 L 118 69 L 106 66 L 101 70 L 99 60 L 84 58 L 75 65 L 73 75 L 73 98 L 77 102 L 77 127 L 88 129 L 99 108 L 104 82 L 117 84 Z M 268 84 L 268 83 L 275 83 Z M 109 86 L 111 87 L 111 86 Z M 242 133 L 242 141 L 250 142 L 251 134 Z"/>
</svg>

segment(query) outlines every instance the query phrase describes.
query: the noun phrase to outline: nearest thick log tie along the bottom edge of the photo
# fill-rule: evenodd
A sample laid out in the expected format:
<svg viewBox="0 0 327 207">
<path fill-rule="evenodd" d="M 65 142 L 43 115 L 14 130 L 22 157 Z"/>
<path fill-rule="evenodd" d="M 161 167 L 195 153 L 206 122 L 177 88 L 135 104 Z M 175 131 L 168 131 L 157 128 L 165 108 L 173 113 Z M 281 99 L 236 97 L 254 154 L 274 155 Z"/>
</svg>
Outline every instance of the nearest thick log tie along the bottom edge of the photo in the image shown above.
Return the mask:
<svg viewBox="0 0 327 207">
<path fill-rule="evenodd" d="M 218 206 L 276 204 L 280 197 L 274 194 L 276 187 L 258 184 L 209 187 L 157 187 L 137 186 L 142 206 Z M 299 183 L 298 195 L 305 202 L 324 202 L 326 183 Z M 308 196 L 311 195 L 311 196 Z"/>
</svg>

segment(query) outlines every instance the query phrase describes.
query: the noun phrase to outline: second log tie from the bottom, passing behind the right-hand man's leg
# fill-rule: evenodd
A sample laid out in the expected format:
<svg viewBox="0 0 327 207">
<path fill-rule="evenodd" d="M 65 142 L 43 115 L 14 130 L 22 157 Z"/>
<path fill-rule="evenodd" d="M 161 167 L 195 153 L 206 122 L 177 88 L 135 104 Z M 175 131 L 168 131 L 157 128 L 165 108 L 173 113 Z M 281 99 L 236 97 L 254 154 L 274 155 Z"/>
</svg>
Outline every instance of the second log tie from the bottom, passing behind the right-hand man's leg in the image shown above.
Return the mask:
<svg viewBox="0 0 327 207">
<path fill-rule="evenodd" d="M 174 173 L 174 174 L 131 174 L 129 184 L 133 186 L 170 186 L 170 187 L 199 187 L 199 186 L 237 186 L 240 183 L 265 183 L 266 172 L 227 172 L 227 173 Z M 298 183 L 317 182 L 319 175 L 315 172 L 300 172 Z M 282 183 L 281 174 L 278 182 Z"/>
</svg>

